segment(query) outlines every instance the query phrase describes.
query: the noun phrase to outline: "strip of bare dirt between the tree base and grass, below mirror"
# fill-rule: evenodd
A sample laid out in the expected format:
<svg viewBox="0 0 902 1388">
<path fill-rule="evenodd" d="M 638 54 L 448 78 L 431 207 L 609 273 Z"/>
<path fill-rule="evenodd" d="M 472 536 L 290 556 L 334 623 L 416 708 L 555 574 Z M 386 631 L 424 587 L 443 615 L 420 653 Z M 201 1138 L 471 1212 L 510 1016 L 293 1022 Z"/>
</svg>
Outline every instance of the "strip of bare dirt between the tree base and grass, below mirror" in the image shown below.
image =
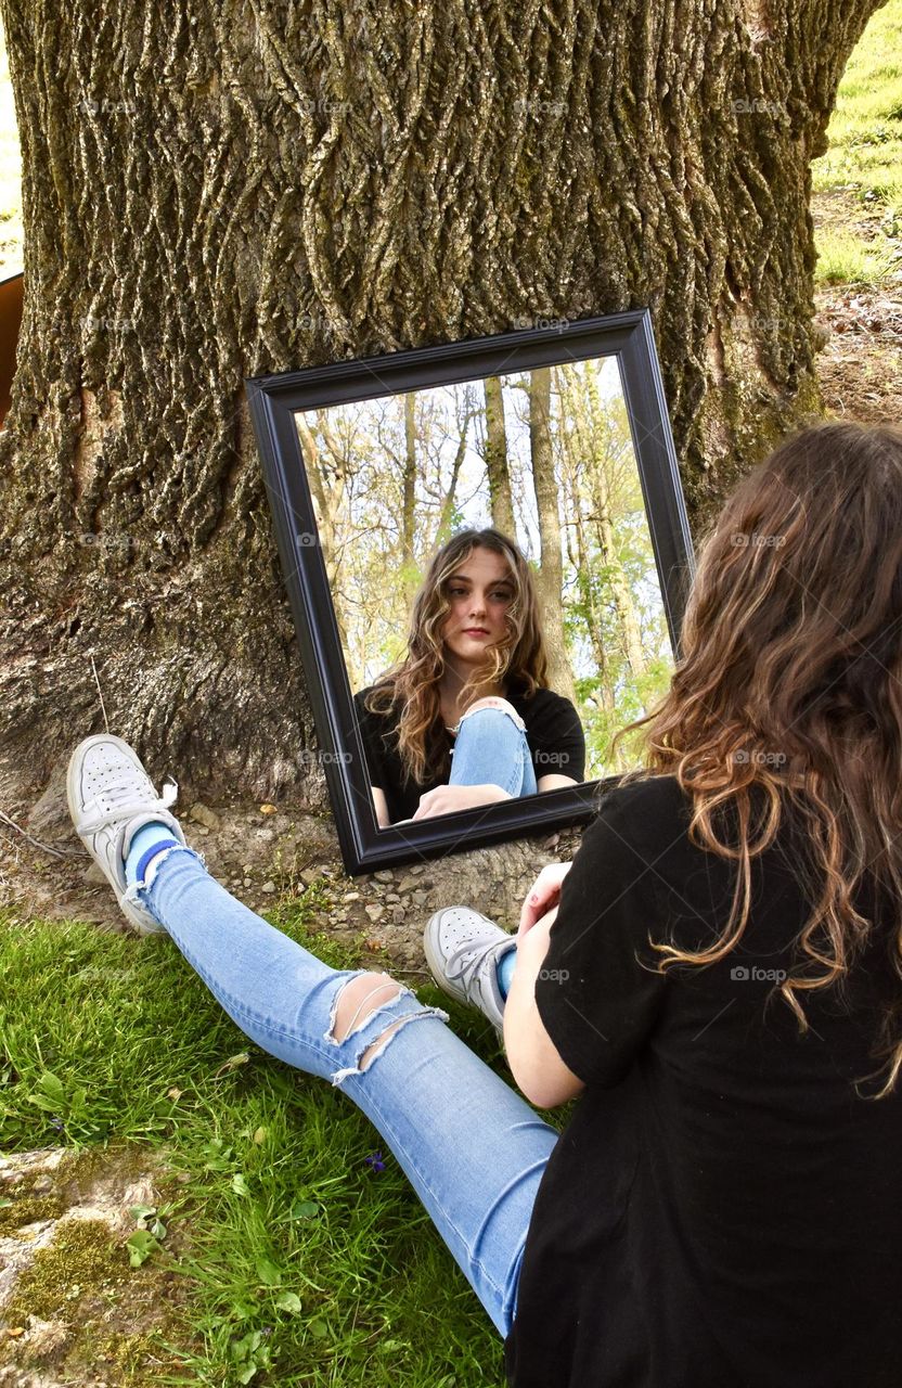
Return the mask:
<svg viewBox="0 0 902 1388">
<path fill-rule="evenodd" d="M 25 833 L 0 822 L 0 906 L 22 919 L 93 922 L 129 931 L 107 879 L 75 837 L 61 791 L 42 797 L 40 812 L 18 818 Z M 179 819 L 208 870 L 253 911 L 266 912 L 311 890 L 311 926 L 359 952 L 364 966 L 386 965 L 427 979 L 423 927 L 434 911 L 469 905 L 508 929 L 538 870 L 572 858 L 581 827 L 450 854 L 350 877 L 334 824 L 286 806 L 196 804 Z M 65 856 L 42 851 L 37 843 Z"/>
</svg>

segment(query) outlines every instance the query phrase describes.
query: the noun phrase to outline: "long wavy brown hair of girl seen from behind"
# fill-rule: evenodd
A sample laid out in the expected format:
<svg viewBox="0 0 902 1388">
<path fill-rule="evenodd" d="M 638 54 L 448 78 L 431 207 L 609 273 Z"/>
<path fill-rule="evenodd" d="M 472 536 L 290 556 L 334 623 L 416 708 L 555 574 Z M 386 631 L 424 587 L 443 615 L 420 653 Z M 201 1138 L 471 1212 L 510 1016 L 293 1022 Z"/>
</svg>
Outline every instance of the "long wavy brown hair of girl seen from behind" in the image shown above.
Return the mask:
<svg viewBox="0 0 902 1388">
<path fill-rule="evenodd" d="M 784 813 L 798 816 L 812 913 L 767 1001 L 783 994 L 803 1033 L 799 997 L 835 984 L 845 999 L 856 958 L 881 945 L 883 927 L 852 904 L 865 879 L 865 899 L 883 894 L 895 922 L 883 942 L 902 980 L 902 430 L 805 429 L 749 473 L 701 547 L 681 644 L 663 701 L 615 738 L 645 726 L 643 765 L 620 784 L 676 775 L 692 797 L 690 837 L 737 874 L 709 948 L 649 938 L 658 972 L 730 954 L 749 917 L 751 859 Z M 719 837 L 723 812 L 733 829 Z M 724 841 L 735 826 L 738 841 Z M 871 1051 L 885 1083 L 869 1098 L 895 1088 L 901 1020 L 894 988 Z"/>
</svg>

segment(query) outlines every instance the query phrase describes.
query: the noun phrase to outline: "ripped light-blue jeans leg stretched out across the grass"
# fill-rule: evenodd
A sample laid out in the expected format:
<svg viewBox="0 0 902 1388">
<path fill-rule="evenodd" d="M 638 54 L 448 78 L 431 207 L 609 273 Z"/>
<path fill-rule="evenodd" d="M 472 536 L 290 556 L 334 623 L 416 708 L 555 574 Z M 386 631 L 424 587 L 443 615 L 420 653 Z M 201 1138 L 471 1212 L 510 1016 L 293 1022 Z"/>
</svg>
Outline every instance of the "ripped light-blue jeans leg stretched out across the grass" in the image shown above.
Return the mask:
<svg viewBox="0 0 902 1388">
<path fill-rule="evenodd" d="M 402 984 L 386 985 L 337 1042 L 341 990 L 368 970 L 330 969 L 236 901 L 193 849 L 167 848 L 157 862 L 139 899 L 251 1041 L 362 1109 L 507 1337 L 555 1130 Z"/>
</svg>

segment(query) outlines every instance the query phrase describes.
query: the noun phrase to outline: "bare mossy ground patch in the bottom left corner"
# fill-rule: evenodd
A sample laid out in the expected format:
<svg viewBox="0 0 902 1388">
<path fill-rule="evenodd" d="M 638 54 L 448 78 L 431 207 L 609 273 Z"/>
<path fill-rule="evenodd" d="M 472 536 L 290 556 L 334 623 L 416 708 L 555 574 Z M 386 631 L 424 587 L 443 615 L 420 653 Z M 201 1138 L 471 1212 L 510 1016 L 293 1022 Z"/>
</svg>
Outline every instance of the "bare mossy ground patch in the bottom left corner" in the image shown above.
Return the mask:
<svg viewBox="0 0 902 1388">
<path fill-rule="evenodd" d="M 183 1303 L 185 1234 L 153 1264 L 128 1245 L 165 1180 L 146 1148 L 0 1159 L 0 1385 L 139 1388 L 178 1367 L 161 1337 Z"/>
</svg>

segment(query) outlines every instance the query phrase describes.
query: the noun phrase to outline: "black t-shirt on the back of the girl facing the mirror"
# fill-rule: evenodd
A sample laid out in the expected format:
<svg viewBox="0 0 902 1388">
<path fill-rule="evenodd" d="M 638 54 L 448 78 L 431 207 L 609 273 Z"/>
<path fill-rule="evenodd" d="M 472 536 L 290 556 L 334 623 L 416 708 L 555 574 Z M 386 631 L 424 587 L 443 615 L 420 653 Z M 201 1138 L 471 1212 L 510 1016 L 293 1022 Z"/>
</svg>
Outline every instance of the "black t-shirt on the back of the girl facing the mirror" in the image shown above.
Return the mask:
<svg viewBox="0 0 902 1388">
<path fill-rule="evenodd" d="M 644 972 L 648 933 L 698 948 L 729 919 L 733 865 L 690 843 L 688 806 L 672 776 L 618 787 L 563 880 L 536 1002 L 587 1088 L 538 1190 L 508 1381 L 898 1388 L 902 1094 L 851 1085 L 883 1063 L 898 912 L 877 916 L 848 1015 L 823 990 L 802 994 L 805 1037 L 780 995 L 765 1017 L 809 916 L 787 822 L 752 861 L 741 942 Z"/>
</svg>

